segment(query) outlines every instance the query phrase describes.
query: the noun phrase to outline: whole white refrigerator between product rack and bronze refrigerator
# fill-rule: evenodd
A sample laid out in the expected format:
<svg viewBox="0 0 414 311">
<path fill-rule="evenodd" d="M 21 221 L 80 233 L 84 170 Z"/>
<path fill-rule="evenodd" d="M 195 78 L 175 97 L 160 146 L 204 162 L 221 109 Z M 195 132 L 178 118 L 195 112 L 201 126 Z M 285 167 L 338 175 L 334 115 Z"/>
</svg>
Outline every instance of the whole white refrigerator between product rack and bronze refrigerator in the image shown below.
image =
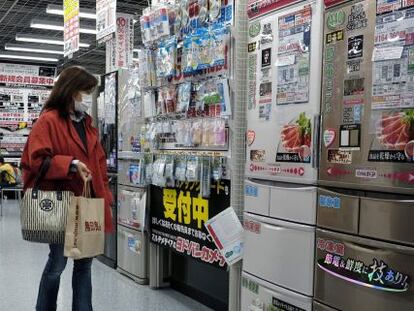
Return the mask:
<svg viewBox="0 0 414 311">
<path fill-rule="evenodd" d="M 242 310 L 312 310 L 322 12 L 249 8 Z"/>
</svg>

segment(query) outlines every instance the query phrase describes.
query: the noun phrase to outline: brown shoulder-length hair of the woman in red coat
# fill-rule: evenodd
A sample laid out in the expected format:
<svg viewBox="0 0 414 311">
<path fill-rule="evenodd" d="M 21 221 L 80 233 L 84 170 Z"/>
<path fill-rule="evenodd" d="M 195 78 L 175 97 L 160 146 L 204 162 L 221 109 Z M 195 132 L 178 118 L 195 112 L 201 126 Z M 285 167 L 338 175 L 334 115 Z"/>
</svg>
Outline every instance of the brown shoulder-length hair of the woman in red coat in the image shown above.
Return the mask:
<svg viewBox="0 0 414 311">
<path fill-rule="evenodd" d="M 79 92 L 93 92 L 98 80 L 85 68 L 72 66 L 62 70 L 53 86 L 43 110 L 57 110 L 61 117 L 67 117 L 73 108 L 73 97 Z"/>
</svg>

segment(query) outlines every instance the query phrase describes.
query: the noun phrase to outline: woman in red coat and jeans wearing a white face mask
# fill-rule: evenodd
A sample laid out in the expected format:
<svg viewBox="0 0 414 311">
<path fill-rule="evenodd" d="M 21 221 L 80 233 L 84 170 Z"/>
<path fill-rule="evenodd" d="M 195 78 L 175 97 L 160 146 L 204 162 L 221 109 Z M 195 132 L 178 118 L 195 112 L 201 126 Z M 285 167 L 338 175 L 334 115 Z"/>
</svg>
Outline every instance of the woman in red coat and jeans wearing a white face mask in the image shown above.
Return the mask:
<svg viewBox="0 0 414 311">
<path fill-rule="evenodd" d="M 50 168 L 42 180 L 42 190 L 59 189 L 82 195 L 84 182 L 92 182 L 95 197 L 105 199 L 105 231 L 111 232 L 112 194 L 108 187 L 106 157 L 98 132 L 86 114 L 89 108 L 82 96 L 96 87 L 96 78 L 81 67 L 64 69 L 30 133 L 22 156 L 24 189 L 32 188 L 45 157 Z M 37 311 L 56 310 L 60 275 L 67 258 L 63 245 L 50 245 L 37 298 Z M 92 258 L 75 260 L 72 276 L 72 310 L 92 310 Z"/>
</svg>

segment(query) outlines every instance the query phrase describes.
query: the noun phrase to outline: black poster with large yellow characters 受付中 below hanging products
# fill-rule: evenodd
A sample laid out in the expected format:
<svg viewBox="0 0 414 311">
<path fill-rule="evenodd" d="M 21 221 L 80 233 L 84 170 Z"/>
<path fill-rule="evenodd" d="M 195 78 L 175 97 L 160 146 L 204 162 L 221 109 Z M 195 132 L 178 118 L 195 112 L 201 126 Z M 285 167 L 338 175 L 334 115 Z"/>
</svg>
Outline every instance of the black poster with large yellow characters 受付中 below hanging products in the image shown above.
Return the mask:
<svg viewBox="0 0 414 311">
<path fill-rule="evenodd" d="M 151 186 L 150 197 L 152 243 L 218 267 L 226 265 L 205 224 L 230 206 L 229 180 L 214 182 L 210 198 L 200 195 L 197 182 L 176 188 Z"/>
</svg>

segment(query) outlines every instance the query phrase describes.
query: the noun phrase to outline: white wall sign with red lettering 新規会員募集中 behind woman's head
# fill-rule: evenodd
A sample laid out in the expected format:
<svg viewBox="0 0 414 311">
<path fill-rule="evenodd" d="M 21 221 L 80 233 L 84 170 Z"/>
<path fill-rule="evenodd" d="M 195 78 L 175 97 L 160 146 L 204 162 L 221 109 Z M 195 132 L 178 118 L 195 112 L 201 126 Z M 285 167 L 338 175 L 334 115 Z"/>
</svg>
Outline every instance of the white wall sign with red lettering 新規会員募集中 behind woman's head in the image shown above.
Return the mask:
<svg viewBox="0 0 414 311">
<path fill-rule="evenodd" d="M 0 63 L 0 84 L 53 86 L 55 67 Z"/>
</svg>

